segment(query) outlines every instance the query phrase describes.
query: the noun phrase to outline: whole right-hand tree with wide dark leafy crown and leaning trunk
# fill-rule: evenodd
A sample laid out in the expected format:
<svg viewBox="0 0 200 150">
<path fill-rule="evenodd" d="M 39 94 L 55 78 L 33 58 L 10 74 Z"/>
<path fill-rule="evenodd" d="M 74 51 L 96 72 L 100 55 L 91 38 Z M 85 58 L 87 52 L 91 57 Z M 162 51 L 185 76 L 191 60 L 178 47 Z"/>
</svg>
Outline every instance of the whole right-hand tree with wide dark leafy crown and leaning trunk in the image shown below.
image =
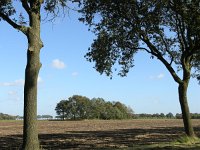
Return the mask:
<svg viewBox="0 0 200 150">
<path fill-rule="evenodd" d="M 178 84 L 185 133 L 190 137 L 195 134 L 187 89 L 191 77 L 200 79 L 199 8 L 198 0 L 85 0 L 80 10 L 80 21 L 97 36 L 85 57 L 95 62 L 100 74 L 112 77 L 118 63 L 119 75 L 127 75 L 140 51 L 166 67 Z"/>
</svg>

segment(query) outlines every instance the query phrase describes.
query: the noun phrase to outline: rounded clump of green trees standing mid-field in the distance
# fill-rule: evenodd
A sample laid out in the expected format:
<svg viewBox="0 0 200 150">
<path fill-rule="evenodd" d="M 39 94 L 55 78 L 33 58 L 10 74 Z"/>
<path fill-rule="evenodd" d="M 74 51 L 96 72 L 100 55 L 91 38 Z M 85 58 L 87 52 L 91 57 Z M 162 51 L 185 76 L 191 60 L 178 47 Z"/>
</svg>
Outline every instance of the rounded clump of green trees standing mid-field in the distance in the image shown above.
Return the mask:
<svg viewBox="0 0 200 150">
<path fill-rule="evenodd" d="M 61 120 L 79 119 L 131 119 L 133 110 L 121 102 L 105 101 L 103 98 L 89 99 L 74 95 L 57 103 L 55 111 Z"/>
</svg>

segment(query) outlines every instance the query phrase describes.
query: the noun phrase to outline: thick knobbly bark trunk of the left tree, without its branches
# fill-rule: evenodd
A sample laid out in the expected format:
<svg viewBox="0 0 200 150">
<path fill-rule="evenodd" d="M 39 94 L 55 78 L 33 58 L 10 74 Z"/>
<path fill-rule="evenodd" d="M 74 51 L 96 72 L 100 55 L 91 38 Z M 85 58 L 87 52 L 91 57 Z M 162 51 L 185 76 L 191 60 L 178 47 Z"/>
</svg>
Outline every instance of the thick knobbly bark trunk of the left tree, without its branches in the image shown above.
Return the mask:
<svg viewBox="0 0 200 150">
<path fill-rule="evenodd" d="M 40 15 L 30 15 L 30 28 L 27 33 L 28 52 L 25 70 L 24 86 L 24 128 L 23 150 L 39 150 L 37 131 L 37 79 L 40 63 L 40 49 L 43 47 L 40 39 Z"/>
</svg>

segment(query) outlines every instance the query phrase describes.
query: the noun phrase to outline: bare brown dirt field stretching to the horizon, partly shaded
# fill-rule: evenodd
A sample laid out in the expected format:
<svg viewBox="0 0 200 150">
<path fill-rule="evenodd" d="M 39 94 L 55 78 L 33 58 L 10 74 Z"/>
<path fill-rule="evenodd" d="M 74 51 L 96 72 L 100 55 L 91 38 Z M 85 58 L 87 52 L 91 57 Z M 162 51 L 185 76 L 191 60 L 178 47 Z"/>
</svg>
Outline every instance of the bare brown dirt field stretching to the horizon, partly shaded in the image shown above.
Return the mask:
<svg viewBox="0 0 200 150">
<path fill-rule="evenodd" d="M 200 137 L 200 120 L 193 120 Z M 39 121 L 43 149 L 128 149 L 169 143 L 184 134 L 182 120 Z M 22 121 L 0 121 L 0 149 L 18 149 Z"/>
</svg>

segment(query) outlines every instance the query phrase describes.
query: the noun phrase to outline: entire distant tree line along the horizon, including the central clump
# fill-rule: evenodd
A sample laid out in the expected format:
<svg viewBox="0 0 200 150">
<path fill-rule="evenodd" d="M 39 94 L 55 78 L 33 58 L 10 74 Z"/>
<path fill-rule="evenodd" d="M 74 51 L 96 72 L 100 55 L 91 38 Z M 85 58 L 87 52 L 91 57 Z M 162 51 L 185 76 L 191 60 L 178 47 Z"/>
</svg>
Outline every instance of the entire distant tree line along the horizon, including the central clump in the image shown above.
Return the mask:
<svg viewBox="0 0 200 150">
<path fill-rule="evenodd" d="M 75 101 L 77 98 L 81 98 L 82 96 L 73 96 Z M 83 99 L 86 97 L 82 97 Z M 72 100 L 70 98 L 70 100 Z M 89 100 L 89 99 L 88 99 Z M 89 103 L 86 106 L 80 106 L 80 100 L 77 100 L 76 105 L 73 104 L 73 107 L 68 111 L 66 109 L 66 104 L 70 104 L 66 102 L 69 100 L 62 100 L 56 106 L 56 119 L 182 119 L 182 114 L 169 112 L 167 114 L 164 113 L 155 113 L 155 114 L 134 114 L 133 110 L 130 107 L 125 106 L 121 102 L 106 102 L 102 98 L 93 98 L 89 100 Z M 84 100 L 83 100 L 84 101 Z M 74 102 L 73 102 L 74 103 Z M 99 107 L 98 107 L 99 106 Z M 70 107 L 70 106 L 69 106 Z M 71 112 L 70 112 L 71 111 Z M 77 112 L 76 112 L 77 111 Z M 66 114 L 68 112 L 68 114 Z M 83 112 L 83 113 L 82 113 Z M 88 115 L 88 116 L 87 116 Z M 200 119 L 199 113 L 191 113 L 191 119 Z M 37 115 L 38 120 L 52 120 L 54 119 L 51 115 Z M 23 116 L 12 116 L 8 114 L 0 113 L 0 120 L 23 120 Z"/>
</svg>

